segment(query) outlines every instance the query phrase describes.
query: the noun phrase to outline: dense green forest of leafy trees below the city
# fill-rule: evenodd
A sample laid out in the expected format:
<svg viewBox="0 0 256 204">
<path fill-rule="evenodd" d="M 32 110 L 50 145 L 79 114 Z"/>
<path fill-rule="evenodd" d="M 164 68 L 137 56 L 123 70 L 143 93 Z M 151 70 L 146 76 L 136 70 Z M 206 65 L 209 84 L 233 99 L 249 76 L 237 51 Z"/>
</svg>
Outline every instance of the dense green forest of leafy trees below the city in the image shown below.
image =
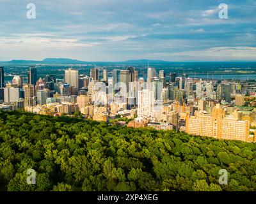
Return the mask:
<svg viewBox="0 0 256 204">
<path fill-rule="evenodd" d="M 256 191 L 256 144 L 0 112 L 0 190 Z"/>
</svg>

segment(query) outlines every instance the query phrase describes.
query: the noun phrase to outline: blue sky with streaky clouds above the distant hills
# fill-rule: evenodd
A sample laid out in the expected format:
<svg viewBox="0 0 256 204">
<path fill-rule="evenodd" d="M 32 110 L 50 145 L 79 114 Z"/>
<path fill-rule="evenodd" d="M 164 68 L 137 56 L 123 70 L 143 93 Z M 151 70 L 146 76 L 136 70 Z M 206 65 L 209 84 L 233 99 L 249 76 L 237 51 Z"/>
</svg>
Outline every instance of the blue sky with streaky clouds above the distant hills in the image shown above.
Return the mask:
<svg viewBox="0 0 256 204">
<path fill-rule="evenodd" d="M 0 61 L 47 57 L 256 61 L 256 1 L 0 0 Z"/>
</svg>

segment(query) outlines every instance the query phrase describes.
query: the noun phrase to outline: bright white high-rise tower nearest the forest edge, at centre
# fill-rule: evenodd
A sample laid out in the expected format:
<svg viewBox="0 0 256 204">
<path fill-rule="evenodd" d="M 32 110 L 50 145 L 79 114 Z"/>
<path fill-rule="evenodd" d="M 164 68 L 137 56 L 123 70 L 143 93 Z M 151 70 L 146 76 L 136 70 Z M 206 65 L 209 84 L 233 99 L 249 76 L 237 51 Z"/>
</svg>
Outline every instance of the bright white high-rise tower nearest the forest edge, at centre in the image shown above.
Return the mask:
<svg viewBox="0 0 256 204">
<path fill-rule="evenodd" d="M 143 89 L 138 92 L 138 117 L 150 117 L 154 105 L 154 92 Z"/>
</svg>

